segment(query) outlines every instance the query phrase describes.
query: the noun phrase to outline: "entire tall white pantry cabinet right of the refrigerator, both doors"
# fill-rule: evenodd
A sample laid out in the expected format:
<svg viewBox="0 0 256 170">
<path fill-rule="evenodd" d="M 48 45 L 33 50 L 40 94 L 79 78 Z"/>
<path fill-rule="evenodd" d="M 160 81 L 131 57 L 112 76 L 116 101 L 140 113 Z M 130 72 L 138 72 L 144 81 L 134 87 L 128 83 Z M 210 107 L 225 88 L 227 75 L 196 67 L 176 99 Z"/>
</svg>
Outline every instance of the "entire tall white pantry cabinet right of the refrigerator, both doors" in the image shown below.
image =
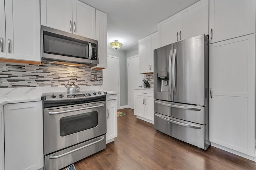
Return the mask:
<svg viewBox="0 0 256 170">
<path fill-rule="evenodd" d="M 209 2 L 210 142 L 255 160 L 256 1 Z"/>
</svg>

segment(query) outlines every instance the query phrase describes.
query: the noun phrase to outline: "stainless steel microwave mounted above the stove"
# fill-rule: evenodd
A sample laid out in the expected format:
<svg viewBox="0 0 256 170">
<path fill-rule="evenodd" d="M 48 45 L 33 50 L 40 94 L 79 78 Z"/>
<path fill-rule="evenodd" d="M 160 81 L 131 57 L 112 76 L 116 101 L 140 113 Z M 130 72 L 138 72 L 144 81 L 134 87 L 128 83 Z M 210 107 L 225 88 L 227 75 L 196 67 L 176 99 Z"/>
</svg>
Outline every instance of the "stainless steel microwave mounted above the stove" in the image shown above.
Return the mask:
<svg viewBox="0 0 256 170">
<path fill-rule="evenodd" d="M 98 41 L 41 26 L 42 60 L 98 64 Z"/>
</svg>

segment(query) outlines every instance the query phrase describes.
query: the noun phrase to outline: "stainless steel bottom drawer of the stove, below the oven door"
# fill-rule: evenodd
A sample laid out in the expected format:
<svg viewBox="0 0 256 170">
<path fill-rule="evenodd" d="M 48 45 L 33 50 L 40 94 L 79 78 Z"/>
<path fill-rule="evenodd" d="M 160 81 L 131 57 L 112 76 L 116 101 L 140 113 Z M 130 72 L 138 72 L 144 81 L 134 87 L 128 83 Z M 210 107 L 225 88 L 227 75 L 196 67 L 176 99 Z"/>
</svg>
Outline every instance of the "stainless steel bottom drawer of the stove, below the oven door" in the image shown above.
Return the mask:
<svg viewBox="0 0 256 170">
<path fill-rule="evenodd" d="M 45 156 L 45 170 L 59 170 L 106 148 L 106 135 Z"/>
</svg>

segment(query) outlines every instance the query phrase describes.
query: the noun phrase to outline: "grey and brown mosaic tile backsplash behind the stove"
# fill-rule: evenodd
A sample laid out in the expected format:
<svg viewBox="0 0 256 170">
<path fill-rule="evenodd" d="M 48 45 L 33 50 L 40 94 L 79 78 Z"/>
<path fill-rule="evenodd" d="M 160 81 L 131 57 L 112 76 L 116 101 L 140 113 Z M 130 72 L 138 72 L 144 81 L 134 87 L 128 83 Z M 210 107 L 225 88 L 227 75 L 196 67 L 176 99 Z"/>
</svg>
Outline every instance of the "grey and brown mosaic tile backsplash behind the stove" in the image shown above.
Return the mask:
<svg viewBox="0 0 256 170">
<path fill-rule="evenodd" d="M 97 75 L 97 81 L 94 81 L 94 75 Z M 0 62 L 0 88 L 64 86 L 70 78 L 76 78 L 79 86 L 101 86 L 102 70 L 85 66 Z"/>
</svg>

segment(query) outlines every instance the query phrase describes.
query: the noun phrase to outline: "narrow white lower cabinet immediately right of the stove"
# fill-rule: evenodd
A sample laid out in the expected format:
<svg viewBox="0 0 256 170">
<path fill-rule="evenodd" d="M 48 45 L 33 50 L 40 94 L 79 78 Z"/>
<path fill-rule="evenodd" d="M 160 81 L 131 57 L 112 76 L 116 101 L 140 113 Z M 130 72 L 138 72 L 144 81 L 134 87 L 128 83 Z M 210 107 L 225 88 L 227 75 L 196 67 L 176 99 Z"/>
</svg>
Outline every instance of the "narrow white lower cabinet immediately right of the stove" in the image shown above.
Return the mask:
<svg viewBox="0 0 256 170">
<path fill-rule="evenodd" d="M 117 94 L 106 96 L 107 103 L 107 143 L 114 141 L 117 137 Z"/>
</svg>

